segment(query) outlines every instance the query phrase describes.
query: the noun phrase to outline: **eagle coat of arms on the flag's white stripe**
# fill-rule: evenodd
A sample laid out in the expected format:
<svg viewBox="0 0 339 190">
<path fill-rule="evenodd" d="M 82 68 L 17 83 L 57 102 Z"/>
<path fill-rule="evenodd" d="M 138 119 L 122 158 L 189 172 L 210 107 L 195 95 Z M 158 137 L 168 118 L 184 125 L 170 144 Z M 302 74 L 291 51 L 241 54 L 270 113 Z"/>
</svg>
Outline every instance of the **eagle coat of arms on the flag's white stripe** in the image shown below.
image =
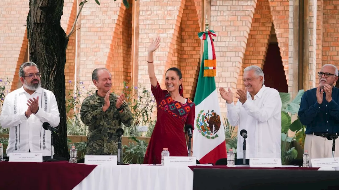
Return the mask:
<svg viewBox="0 0 339 190">
<path fill-rule="evenodd" d="M 198 132 L 207 139 L 216 139 L 219 137 L 217 132 L 220 129 L 221 120 L 220 116 L 212 110 L 207 110 L 207 113 L 204 110 L 201 110 L 196 119 L 196 126 Z"/>
</svg>

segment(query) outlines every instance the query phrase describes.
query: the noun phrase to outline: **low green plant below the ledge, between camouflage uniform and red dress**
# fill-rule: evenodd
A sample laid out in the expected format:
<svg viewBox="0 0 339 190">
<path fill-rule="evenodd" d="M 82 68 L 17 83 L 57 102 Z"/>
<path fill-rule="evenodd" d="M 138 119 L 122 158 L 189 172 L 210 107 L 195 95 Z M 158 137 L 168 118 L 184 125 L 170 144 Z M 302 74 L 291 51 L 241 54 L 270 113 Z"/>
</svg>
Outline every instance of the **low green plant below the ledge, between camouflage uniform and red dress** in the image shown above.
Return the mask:
<svg viewBox="0 0 339 190">
<path fill-rule="evenodd" d="M 145 158 L 145 153 L 147 150 L 147 143 L 142 140 L 138 140 L 135 137 L 129 137 L 129 139 L 132 139 L 136 142 L 134 143 L 128 143 L 127 145 L 124 145 L 124 154 L 123 154 L 123 163 L 125 164 L 142 164 Z"/>
</svg>

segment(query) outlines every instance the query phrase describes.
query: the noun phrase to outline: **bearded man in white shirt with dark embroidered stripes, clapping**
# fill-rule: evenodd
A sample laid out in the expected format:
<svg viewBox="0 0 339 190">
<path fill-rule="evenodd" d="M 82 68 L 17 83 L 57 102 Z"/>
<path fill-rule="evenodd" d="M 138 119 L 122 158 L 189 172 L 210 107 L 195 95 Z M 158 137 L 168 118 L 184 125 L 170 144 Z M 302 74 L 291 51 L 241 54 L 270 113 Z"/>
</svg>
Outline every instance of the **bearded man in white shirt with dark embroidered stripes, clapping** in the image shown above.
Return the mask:
<svg viewBox="0 0 339 190">
<path fill-rule="evenodd" d="M 44 122 L 59 125 L 60 117 L 53 92 L 41 88 L 41 73 L 33 62 L 19 68 L 23 86 L 7 94 L 0 115 L 0 124 L 9 128 L 6 153 L 42 152 L 51 156 L 51 132 L 42 127 Z"/>
</svg>

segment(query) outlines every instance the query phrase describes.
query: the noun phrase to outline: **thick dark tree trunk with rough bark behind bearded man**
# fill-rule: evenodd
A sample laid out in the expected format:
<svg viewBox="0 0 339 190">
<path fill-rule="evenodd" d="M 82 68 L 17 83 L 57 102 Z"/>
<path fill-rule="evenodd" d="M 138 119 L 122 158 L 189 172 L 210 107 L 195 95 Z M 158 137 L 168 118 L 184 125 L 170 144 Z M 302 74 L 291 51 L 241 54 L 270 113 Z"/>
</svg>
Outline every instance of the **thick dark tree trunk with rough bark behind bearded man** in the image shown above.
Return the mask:
<svg viewBox="0 0 339 190">
<path fill-rule="evenodd" d="M 29 0 L 27 38 L 29 60 L 39 67 L 41 86 L 54 93 L 59 113 L 59 133 L 54 138 L 55 156 L 69 159 L 65 108 L 65 63 L 68 38 L 61 28 L 63 0 Z"/>
</svg>

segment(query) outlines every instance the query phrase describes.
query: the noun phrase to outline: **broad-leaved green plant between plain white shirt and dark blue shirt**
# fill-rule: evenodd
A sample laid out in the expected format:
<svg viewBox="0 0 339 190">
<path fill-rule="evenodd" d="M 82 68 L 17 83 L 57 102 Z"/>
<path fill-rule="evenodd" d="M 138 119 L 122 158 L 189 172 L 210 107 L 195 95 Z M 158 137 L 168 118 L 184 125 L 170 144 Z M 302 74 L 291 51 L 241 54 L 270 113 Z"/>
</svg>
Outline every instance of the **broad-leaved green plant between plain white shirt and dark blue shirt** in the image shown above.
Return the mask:
<svg viewBox="0 0 339 190">
<path fill-rule="evenodd" d="M 304 141 L 304 135 L 293 137 L 288 137 L 288 130 L 296 132 L 296 134 L 304 134 L 305 126 L 301 124 L 299 117 L 292 122 L 291 116 L 294 116 L 298 113 L 300 108 L 300 100 L 304 94 L 304 90 L 299 90 L 295 99 L 291 100 L 291 95 L 289 93 L 279 93 L 282 108 L 281 108 L 281 162 L 282 164 L 287 164 L 293 159 L 297 158 L 298 151 L 295 147 L 291 147 L 291 143 L 296 140 Z M 291 123 L 292 122 L 292 123 Z"/>
</svg>

